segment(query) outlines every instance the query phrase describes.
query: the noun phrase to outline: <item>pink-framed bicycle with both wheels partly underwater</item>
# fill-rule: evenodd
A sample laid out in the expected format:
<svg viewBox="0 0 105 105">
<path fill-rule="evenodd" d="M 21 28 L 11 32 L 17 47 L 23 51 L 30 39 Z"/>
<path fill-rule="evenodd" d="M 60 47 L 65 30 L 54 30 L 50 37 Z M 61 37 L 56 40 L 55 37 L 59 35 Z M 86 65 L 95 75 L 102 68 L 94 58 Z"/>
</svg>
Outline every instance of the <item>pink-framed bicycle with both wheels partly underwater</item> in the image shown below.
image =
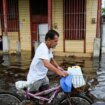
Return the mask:
<svg viewBox="0 0 105 105">
<path fill-rule="evenodd" d="M 0 92 L 0 105 L 91 105 L 93 103 L 84 93 L 63 92 L 60 85 L 36 93 L 31 93 L 26 88 L 22 91 L 23 97 L 17 93 Z"/>
</svg>

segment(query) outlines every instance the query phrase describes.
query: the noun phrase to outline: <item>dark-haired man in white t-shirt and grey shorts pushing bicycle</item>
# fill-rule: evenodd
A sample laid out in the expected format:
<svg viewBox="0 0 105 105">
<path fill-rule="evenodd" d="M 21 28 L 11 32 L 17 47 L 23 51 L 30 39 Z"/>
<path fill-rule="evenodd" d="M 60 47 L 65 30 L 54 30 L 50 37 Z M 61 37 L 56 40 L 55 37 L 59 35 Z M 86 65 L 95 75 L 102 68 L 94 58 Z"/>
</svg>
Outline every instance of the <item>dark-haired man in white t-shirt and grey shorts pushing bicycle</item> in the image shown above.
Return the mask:
<svg viewBox="0 0 105 105">
<path fill-rule="evenodd" d="M 56 63 L 53 58 L 52 49 L 58 43 L 59 34 L 55 30 L 49 30 L 45 36 L 45 43 L 41 43 L 35 52 L 35 56 L 30 65 L 27 81 L 30 91 L 38 91 L 41 86 L 48 86 L 49 79 L 47 77 L 48 70 L 51 70 L 59 76 L 67 76 L 66 71 Z"/>
</svg>

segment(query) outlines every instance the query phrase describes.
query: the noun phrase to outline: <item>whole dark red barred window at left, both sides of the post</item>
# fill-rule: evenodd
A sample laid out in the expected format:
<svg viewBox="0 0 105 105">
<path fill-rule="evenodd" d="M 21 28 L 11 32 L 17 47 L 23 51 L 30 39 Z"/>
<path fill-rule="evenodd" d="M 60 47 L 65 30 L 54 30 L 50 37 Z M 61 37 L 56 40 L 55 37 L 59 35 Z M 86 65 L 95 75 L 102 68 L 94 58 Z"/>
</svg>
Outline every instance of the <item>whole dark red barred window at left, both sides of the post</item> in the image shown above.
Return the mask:
<svg viewBox="0 0 105 105">
<path fill-rule="evenodd" d="M 18 0 L 7 0 L 7 30 L 8 32 L 19 31 Z M 2 31 L 4 31 L 3 1 L 0 0 L 0 17 Z"/>
</svg>

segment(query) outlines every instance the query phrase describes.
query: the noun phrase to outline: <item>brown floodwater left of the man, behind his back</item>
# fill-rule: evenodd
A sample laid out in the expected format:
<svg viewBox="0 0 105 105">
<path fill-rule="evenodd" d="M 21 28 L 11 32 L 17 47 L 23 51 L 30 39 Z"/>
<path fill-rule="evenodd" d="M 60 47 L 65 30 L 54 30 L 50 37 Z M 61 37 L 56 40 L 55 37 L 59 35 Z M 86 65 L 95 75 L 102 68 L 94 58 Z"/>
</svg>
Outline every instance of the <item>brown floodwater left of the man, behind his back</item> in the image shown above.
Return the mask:
<svg viewBox="0 0 105 105">
<path fill-rule="evenodd" d="M 0 90 L 15 91 L 15 81 L 26 78 L 31 62 L 28 54 L 0 55 Z"/>
</svg>

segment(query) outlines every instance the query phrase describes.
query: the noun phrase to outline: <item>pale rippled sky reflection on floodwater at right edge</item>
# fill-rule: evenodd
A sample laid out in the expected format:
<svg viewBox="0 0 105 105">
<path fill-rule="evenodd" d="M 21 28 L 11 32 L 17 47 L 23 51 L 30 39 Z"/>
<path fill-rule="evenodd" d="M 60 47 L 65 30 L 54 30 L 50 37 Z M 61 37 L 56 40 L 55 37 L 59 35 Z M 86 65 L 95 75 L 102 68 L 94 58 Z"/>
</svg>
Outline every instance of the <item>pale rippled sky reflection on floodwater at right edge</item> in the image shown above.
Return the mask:
<svg viewBox="0 0 105 105">
<path fill-rule="evenodd" d="M 91 91 L 91 93 L 98 99 L 105 101 L 105 54 L 102 54 L 101 61 L 97 70 L 98 84 Z"/>
</svg>

